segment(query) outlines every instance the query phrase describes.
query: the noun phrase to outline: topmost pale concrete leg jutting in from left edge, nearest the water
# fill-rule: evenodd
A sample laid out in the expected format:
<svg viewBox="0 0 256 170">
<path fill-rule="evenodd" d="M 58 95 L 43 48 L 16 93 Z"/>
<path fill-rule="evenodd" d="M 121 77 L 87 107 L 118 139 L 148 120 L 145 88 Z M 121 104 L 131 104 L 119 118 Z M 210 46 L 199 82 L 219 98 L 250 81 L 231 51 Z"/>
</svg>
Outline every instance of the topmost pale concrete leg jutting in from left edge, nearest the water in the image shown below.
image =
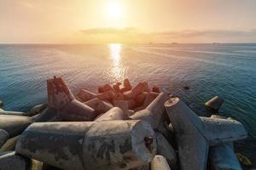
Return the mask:
<svg viewBox="0 0 256 170">
<path fill-rule="evenodd" d="M 0 129 L 9 133 L 9 138 L 22 133 L 31 123 L 27 116 L 0 115 Z"/>
</svg>

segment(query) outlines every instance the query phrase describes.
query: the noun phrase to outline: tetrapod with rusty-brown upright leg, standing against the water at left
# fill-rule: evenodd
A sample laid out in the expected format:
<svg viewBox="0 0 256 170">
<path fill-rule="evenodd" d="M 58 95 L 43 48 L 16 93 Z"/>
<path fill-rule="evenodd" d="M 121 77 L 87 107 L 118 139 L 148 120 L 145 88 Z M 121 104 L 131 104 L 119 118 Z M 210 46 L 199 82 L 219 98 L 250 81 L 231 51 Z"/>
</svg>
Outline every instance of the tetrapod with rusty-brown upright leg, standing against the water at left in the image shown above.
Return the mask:
<svg viewBox="0 0 256 170">
<path fill-rule="evenodd" d="M 58 111 L 68 121 L 92 121 L 95 110 L 74 98 L 61 77 L 47 80 L 48 105 Z"/>
</svg>

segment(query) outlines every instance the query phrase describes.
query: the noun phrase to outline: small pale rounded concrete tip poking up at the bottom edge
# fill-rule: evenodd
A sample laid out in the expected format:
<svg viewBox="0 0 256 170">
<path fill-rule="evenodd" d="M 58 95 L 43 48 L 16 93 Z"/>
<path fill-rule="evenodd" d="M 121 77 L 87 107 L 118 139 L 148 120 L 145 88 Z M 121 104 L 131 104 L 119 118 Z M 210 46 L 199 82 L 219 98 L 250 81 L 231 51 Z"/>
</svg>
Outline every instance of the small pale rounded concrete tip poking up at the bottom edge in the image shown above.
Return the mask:
<svg viewBox="0 0 256 170">
<path fill-rule="evenodd" d="M 151 170 L 171 170 L 164 156 L 154 156 Z"/>
</svg>

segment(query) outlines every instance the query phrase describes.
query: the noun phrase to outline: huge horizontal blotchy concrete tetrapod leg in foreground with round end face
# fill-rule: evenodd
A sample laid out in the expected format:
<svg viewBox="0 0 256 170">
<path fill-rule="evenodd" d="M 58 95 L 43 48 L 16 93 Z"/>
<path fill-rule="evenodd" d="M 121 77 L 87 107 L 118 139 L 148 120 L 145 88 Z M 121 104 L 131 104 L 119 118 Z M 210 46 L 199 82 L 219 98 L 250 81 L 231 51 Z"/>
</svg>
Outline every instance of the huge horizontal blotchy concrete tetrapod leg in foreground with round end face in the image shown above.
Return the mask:
<svg viewBox="0 0 256 170">
<path fill-rule="evenodd" d="M 33 123 L 16 152 L 62 169 L 129 169 L 150 162 L 154 131 L 143 121 Z"/>
</svg>

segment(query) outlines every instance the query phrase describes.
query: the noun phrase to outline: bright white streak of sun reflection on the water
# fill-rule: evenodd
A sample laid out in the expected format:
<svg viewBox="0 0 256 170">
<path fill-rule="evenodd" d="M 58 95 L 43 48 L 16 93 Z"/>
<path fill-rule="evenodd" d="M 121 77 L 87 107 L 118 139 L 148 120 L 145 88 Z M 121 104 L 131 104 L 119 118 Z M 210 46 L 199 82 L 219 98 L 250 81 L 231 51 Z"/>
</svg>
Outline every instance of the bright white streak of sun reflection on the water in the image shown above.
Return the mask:
<svg viewBox="0 0 256 170">
<path fill-rule="evenodd" d="M 121 51 L 122 44 L 111 43 L 109 44 L 110 57 L 113 60 L 113 65 L 110 68 L 111 77 L 115 82 L 121 82 L 124 78 L 125 68 L 121 65 Z"/>
</svg>

